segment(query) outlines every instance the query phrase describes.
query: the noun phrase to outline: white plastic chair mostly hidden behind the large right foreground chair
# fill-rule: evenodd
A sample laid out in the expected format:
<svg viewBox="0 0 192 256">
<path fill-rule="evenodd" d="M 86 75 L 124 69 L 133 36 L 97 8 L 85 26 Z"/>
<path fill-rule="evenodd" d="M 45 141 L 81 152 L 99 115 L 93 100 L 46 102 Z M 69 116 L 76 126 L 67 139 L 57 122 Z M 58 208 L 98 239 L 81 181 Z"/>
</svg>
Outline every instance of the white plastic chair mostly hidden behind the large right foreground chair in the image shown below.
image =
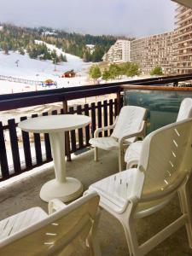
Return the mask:
<svg viewBox="0 0 192 256">
<path fill-rule="evenodd" d="M 188 119 L 192 117 L 192 99 L 185 98 L 181 102 L 181 106 L 179 108 L 177 114 L 177 122 L 183 119 Z M 135 143 L 131 143 L 130 147 L 125 151 L 125 163 L 126 169 L 129 169 L 133 166 L 137 166 L 139 156 L 142 150 L 142 141 L 137 141 Z"/>
</svg>

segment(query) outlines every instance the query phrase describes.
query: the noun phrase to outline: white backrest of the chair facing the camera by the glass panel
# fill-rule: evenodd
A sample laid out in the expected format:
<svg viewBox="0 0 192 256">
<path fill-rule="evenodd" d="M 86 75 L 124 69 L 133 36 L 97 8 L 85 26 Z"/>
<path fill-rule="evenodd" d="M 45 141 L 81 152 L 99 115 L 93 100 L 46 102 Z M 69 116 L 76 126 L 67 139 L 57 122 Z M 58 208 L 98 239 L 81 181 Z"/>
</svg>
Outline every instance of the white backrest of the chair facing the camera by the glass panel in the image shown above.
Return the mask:
<svg viewBox="0 0 192 256">
<path fill-rule="evenodd" d="M 112 137 L 120 138 L 135 133 L 141 129 L 143 119 L 146 116 L 146 108 L 137 106 L 124 106 L 121 108 L 117 124 L 114 127 Z M 136 137 L 128 139 L 133 143 Z"/>
</svg>

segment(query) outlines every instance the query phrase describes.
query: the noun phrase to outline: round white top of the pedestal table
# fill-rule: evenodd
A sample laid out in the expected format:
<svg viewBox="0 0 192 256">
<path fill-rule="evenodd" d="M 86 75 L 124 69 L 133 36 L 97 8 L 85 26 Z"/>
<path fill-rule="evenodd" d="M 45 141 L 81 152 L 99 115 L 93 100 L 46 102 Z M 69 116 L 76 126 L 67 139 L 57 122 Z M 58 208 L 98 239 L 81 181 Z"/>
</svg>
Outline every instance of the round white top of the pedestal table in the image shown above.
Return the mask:
<svg viewBox="0 0 192 256">
<path fill-rule="evenodd" d="M 88 125 L 90 117 L 82 114 L 59 114 L 26 119 L 18 124 L 23 131 L 51 133 L 71 131 Z"/>
</svg>

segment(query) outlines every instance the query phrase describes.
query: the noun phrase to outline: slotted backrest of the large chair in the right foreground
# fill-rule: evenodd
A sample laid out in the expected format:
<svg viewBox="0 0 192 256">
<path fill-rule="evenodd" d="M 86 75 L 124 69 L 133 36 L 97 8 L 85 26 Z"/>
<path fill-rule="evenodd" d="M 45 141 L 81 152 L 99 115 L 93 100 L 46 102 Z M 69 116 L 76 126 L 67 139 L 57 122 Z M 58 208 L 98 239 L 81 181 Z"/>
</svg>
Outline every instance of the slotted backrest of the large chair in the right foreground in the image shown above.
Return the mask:
<svg viewBox="0 0 192 256">
<path fill-rule="evenodd" d="M 144 138 L 138 164 L 138 197 L 171 196 L 192 168 L 192 119 L 166 125 Z M 136 183 L 137 183 L 136 180 Z"/>
</svg>

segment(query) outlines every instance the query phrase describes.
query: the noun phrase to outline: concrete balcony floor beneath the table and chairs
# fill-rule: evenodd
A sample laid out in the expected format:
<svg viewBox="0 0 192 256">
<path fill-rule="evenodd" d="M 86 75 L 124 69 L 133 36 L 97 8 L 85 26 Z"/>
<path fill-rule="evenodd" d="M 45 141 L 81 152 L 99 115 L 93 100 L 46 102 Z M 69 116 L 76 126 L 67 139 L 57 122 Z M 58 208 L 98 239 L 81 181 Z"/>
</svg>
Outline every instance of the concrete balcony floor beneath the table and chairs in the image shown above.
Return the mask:
<svg viewBox="0 0 192 256">
<path fill-rule="evenodd" d="M 39 190 L 42 184 L 54 177 L 53 164 L 49 163 L 33 171 L 35 172 L 30 177 L 23 177 L 20 181 L 5 186 L 2 186 L 3 183 L 0 184 L 0 219 L 34 206 L 42 207 L 47 211 L 47 203 L 39 198 Z M 67 176 L 77 177 L 84 184 L 84 189 L 87 189 L 91 183 L 115 172 L 118 172 L 118 157 L 115 151 L 100 151 L 99 162 L 94 162 L 92 150 L 75 156 L 72 162 L 67 162 Z M 137 220 L 138 240 L 145 241 L 177 216 L 179 216 L 179 204 L 175 198 L 160 212 Z M 101 213 L 98 236 L 103 256 L 129 255 L 121 225 L 104 210 Z M 88 255 L 84 245 L 81 245 L 78 252 L 73 254 L 73 256 L 84 255 Z M 148 255 L 192 255 L 185 228 L 178 230 Z"/>
</svg>

